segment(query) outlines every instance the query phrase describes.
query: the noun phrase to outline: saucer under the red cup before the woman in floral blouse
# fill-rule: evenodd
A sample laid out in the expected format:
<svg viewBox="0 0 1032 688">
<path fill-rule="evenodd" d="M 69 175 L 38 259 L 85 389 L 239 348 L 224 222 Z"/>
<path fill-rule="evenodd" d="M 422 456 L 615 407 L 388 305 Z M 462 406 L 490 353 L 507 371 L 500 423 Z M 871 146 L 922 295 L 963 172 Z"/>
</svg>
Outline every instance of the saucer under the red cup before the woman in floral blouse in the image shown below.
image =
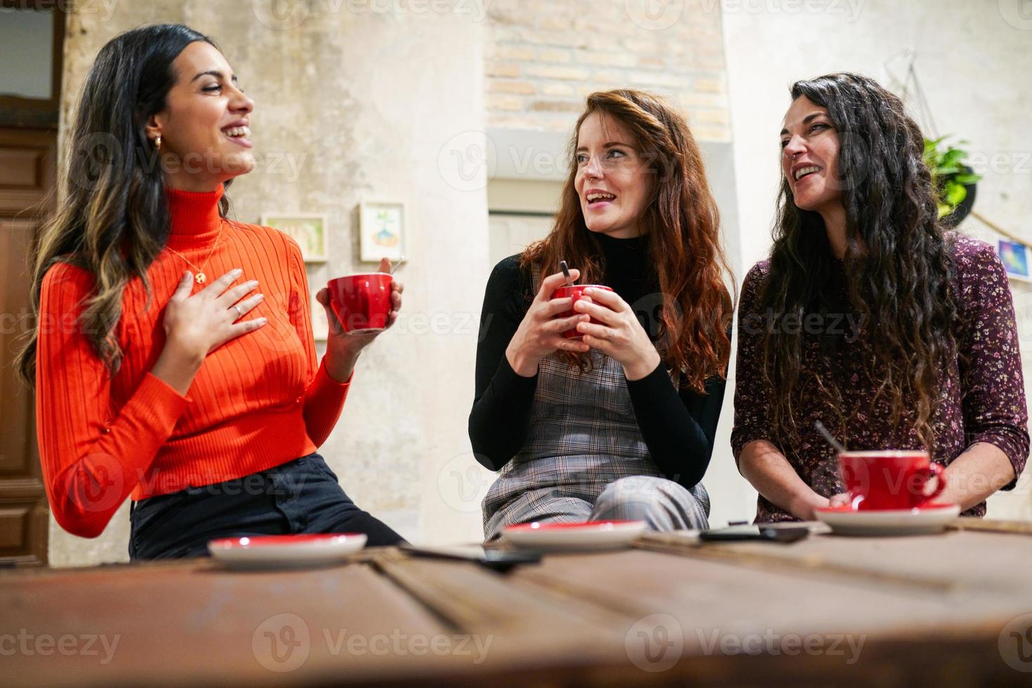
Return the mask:
<svg viewBox="0 0 1032 688">
<path fill-rule="evenodd" d="M 818 521 L 839 535 L 928 535 L 945 530 L 961 507 L 933 502 L 914 509 L 856 512 L 843 505 L 817 509 L 815 513 Z"/>
</svg>

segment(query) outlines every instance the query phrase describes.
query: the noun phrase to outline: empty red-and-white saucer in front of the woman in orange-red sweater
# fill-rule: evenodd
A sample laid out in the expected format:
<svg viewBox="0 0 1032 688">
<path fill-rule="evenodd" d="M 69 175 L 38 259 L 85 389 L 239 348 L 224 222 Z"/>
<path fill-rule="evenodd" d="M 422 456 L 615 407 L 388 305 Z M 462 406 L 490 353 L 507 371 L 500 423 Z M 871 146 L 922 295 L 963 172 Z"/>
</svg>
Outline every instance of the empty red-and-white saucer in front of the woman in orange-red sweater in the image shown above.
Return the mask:
<svg viewBox="0 0 1032 688">
<path fill-rule="evenodd" d="M 207 551 L 234 568 L 285 568 L 335 563 L 365 547 L 364 533 L 224 537 Z"/>
</svg>

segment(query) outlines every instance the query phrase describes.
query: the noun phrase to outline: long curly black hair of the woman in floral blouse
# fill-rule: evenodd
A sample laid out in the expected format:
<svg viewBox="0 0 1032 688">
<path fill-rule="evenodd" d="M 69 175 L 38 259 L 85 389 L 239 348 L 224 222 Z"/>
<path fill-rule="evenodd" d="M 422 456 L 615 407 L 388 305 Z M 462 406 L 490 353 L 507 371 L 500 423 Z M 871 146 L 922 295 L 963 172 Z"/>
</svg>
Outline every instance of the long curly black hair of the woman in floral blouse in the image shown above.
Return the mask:
<svg viewBox="0 0 1032 688">
<path fill-rule="evenodd" d="M 801 97 L 828 108 L 839 136 L 849 303 L 835 301 L 834 280 L 839 273 L 841 281 L 841 269 L 824 220 L 796 205 L 782 176 L 762 312 L 802 318 L 851 307 L 862 323 L 858 335 L 873 352 L 863 363 L 876 390 L 867 411 L 878 403 L 888 407 L 894 435 L 905 424 L 932 450 L 940 373 L 957 356 L 958 314 L 949 286 L 954 263 L 938 222 L 924 137 L 899 98 L 860 74 L 797 81 L 792 98 Z M 764 370 L 777 391 L 772 414 L 779 441 L 799 438 L 795 412 L 803 390 L 825 396 L 839 411 L 845 437 L 850 409 L 829 351 L 823 347 L 818 361 L 804 361 L 800 329 L 773 329 L 765 339 Z"/>
</svg>

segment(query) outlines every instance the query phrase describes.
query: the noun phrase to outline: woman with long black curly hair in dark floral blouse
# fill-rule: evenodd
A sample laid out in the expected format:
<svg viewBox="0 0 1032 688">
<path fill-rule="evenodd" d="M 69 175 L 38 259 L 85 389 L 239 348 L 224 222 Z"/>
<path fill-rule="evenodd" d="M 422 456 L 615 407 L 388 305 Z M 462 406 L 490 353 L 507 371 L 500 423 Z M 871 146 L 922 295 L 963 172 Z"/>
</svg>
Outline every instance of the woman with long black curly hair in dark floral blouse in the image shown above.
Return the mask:
<svg viewBox="0 0 1032 688">
<path fill-rule="evenodd" d="M 983 516 L 1029 451 L 1006 272 L 981 241 L 944 233 L 923 137 L 865 76 L 798 81 L 781 130 L 774 245 L 739 310 L 739 470 L 756 521 L 843 503 L 823 422 L 850 450 L 928 449 L 937 501 Z"/>
</svg>

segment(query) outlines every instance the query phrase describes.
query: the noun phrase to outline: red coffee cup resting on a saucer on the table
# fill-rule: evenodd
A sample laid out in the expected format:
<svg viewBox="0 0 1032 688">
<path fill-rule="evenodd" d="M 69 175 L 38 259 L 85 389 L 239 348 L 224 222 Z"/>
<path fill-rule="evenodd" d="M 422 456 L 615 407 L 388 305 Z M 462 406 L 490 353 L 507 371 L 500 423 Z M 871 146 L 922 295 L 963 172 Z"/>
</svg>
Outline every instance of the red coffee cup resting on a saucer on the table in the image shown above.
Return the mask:
<svg viewBox="0 0 1032 688">
<path fill-rule="evenodd" d="M 883 450 L 839 454 L 842 484 L 861 512 L 922 506 L 946 487 L 942 466 L 928 452 Z M 935 478 L 935 488 L 925 491 Z"/>
</svg>

